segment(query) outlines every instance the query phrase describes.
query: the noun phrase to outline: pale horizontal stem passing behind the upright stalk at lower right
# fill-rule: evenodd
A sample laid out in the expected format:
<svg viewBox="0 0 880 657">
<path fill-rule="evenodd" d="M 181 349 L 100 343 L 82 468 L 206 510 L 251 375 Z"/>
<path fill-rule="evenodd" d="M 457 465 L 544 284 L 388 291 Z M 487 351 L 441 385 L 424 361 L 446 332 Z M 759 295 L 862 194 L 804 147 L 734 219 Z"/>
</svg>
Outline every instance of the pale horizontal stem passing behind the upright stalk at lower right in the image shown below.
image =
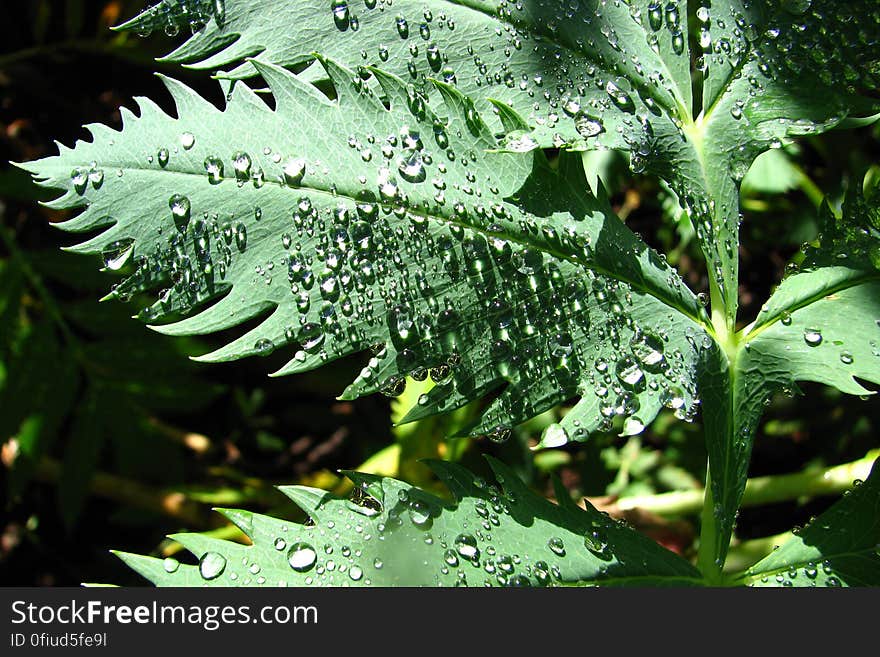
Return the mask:
<svg viewBox="0 0 880 657">
<path fill-rule="evenodd" d="M 830 468 L 809 468 L 791 474 L 749 479 L 743 493 L 742 506 L 761 506 L 820 495 L 840 495 L 852 487 L 854 480 L 864 480 L 878 457 L 880 450 L 873 450 L 857 461 Z M 622 511 L 642 509 L 660 515 L 678 516 L 696 513 L 703 506 L 703 500 L 704 493 L 701 490 L 674 491 L 659 495 L 624 497 L 617 501 L 617 507 Z"/>
</svg>

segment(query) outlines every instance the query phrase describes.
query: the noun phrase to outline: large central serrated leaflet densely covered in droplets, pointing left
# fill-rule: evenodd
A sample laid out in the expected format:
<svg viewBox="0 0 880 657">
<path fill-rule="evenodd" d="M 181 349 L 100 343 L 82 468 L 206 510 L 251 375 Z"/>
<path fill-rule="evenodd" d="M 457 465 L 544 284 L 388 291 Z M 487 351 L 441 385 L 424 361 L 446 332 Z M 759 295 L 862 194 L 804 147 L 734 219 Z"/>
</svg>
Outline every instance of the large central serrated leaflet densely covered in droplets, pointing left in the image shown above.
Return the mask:
<svg viewBox="0 0 880 657">
<path fill-rule="evenodd" d="M 274 109 L 241 83 L 221 111 L 166 80 L 178 118 L 141 99 L 121 133 L 89 126 L 94 141 L 24 165 L 65 190 L 53 207 L 87 206 L 62 228 L 105 228 L 70 250 L 133 263 L 117 296 L 167 286 L 143 317 L 199 311 L 157 330 L 254 320 L 200 360 L 289 349 L 276 374 L 370 348 L 343 398 L 430 375 L 409 421 L 497 392 L 468 433 L 499 440 L 578 395 L 554 444 L 617 415 L 638 433 L 664 405 L 696 412 L 703 308 L 604 193 L 588 195 L 579 157 L 497 152 L 444 83 L 447 121 L 376 70 L 388 107 L 331 61 L 335 101 L 255 65 Z"/>
</svg>

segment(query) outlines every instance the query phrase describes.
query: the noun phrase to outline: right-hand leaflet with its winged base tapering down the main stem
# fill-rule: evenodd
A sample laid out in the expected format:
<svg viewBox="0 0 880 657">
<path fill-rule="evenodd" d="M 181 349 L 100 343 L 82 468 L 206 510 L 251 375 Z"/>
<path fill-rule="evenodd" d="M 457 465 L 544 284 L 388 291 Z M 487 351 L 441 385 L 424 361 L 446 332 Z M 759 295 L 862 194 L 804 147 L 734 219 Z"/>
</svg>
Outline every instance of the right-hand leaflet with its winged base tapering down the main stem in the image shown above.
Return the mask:
<svg viewBox="0 0 880 657">
<path fill-rule="evenodd" d="M 793 392 L 798 381 L 853 395 L 873 394 L 859 379 L 880 383 L 880 210 L 853 195 L 841 217 L 827 207 L 822 214 L 819 246 L 807 250 L 798 273 L 782 281 L 742 331 L 730 372 L 729 355 L 717 348 L 702 370 L 706 430 L 719 437 L 708 442 L 719 558 L 770 395 Z"/>
</svg>

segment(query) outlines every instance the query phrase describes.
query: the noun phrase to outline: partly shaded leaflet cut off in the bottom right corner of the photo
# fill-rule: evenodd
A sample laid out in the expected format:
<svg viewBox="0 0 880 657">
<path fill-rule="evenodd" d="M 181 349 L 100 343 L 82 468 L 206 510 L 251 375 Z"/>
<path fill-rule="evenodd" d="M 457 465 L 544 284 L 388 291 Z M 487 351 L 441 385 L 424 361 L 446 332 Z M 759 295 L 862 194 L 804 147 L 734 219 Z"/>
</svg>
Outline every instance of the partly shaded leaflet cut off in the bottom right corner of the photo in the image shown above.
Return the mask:
<svg viewBox="0 0 880 657">
<path fill-rule="evenodd" d="M 880 580 L 880 461 L 782 547 L 738 576 L 749 586 L 875 586 Z"/>
</svg>

